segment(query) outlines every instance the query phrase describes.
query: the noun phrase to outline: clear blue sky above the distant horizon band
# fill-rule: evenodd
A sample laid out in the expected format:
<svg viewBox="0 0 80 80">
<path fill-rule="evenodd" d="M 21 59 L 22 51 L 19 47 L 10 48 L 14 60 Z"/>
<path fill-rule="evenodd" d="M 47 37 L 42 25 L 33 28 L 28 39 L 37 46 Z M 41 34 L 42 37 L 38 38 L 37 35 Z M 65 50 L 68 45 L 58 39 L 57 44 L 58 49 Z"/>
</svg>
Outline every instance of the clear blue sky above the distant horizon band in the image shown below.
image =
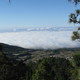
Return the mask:
<svg viewBox="0 0 80 80">
<path fill-rule="evenodd" d="M 68 16 L 76 8 L 67 0 L 0 0 L 0 29 L 74 26 Z"/>
</svg>

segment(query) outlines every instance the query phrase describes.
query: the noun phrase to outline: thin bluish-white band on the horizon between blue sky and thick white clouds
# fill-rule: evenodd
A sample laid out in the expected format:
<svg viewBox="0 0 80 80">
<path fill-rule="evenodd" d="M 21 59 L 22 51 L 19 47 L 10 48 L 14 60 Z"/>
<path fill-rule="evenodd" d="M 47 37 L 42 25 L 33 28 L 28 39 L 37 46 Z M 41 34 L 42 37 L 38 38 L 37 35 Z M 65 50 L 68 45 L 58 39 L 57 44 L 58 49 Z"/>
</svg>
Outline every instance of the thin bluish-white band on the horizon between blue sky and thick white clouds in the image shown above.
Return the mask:
<svg viewBox="0 0 80 80">
<path fill-rule="evenodd" d="M 0 30 L 0 32 L 23 32 L 23 31 L 74 31 L 78 27 L 38 27 L 38 28 L 15 28 Z"/>
</svg>

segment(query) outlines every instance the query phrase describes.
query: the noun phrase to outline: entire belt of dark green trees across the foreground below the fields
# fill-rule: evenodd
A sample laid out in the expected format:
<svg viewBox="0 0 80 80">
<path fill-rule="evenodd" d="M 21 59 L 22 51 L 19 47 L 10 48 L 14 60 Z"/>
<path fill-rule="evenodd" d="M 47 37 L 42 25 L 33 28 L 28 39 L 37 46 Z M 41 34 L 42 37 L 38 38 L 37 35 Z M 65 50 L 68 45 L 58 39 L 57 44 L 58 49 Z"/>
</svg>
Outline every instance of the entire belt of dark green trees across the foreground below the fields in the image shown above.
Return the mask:
<svg viewBox="0 0 80 80">
<path fill-rule="evenodd" d="M 77 80 L 75 67 L 64 58 L 44 58 L 25 64 L 14 63 L 2 54 L 0 57 L 0 80 Z"/>
</svg>

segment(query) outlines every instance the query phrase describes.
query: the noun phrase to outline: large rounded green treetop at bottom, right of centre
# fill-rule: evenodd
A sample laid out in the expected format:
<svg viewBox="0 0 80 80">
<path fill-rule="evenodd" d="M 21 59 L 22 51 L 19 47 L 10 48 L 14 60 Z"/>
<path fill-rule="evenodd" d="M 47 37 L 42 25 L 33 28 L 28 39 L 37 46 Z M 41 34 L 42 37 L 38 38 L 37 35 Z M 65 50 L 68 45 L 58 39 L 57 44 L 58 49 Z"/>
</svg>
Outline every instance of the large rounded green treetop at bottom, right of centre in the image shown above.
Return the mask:
<svg viewBox="0 0 80 80">
<path fill-rule="evenodd" d="M 32 80 L 77 80 L 76 73 L 75 68 L 64 58 L 45 58 L 35 70 Z"/>
</svg>

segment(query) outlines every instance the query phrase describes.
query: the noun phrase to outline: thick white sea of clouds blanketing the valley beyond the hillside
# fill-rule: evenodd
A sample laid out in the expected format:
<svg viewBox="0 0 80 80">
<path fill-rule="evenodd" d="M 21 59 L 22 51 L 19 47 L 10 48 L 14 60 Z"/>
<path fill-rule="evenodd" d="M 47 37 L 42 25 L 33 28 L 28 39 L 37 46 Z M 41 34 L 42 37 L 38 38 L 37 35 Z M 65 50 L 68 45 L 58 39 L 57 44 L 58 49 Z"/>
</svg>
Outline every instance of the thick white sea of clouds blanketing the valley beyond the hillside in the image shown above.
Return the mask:
<svg viewBox="0 0 80 80">
<path fill-rule="evenodd" d="M 23 31 L 0 33 L 0 43 L 29 49 L 57 49 L 80 47 L 71 40 L 72 31 Z"/>
</svg>

